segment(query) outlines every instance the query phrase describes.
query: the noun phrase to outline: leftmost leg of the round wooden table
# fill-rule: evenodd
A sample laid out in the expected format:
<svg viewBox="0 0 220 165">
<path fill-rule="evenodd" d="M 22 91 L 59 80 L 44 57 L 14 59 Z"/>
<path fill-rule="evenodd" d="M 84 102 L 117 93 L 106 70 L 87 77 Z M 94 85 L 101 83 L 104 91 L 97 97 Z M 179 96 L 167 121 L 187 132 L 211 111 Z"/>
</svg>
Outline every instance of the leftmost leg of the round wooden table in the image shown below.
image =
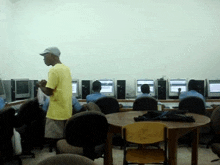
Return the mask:
<svg viewBox="0 0 220 165">
<path fill-rule="evenodd" d="M 107 140 L 105 143 L 104 165 L 113 165 L 112 136 L 113 134 L 108 132 Z"/>
</svg>

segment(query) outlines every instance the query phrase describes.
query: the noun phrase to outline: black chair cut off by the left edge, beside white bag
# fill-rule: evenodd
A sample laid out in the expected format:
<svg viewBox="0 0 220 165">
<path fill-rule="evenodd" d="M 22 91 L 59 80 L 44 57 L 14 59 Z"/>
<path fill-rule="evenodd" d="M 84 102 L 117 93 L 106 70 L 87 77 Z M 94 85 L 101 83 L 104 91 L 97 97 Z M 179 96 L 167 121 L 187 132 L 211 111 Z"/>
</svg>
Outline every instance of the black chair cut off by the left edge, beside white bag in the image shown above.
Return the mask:
<svg viewBox="0 0 220 165">
<path fill-rule="evenodd" d="M 22 164 L 18 156 L 14 156 L 11 138 L 15 125 L 15 109 L 5 108 L 0 112 L 0 164 L 6 162 Z"/>
</svg>

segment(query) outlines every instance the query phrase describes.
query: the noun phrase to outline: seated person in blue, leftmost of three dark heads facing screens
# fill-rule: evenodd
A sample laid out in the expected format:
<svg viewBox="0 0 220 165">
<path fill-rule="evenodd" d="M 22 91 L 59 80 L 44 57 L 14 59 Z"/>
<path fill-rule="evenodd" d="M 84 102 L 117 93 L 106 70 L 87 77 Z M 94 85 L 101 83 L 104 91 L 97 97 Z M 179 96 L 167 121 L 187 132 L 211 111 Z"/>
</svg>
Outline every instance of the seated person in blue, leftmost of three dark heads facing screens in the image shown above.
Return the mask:
<svg viewBox="0 0 220 165">
<path fill-rule="evenodd" d="M 92 83 L 92 90 L 93 90 L 93 94 L 87 95 L 86 96 L 86 102 L 96 102 L 96 100 L 98 100 L 101 97 L 105 97 L 105 95 L 101 94 L 101 82 L 96 80 Z"/>
</svg>

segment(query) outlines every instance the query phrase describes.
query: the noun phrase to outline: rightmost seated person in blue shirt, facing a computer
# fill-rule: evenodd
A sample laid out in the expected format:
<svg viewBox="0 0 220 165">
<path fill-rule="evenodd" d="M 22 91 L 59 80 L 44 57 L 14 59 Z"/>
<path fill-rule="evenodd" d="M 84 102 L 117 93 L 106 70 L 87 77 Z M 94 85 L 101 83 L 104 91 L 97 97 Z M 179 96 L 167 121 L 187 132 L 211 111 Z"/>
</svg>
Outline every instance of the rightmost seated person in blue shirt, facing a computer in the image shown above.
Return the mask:
<svg viewBox="0 0 220 165">
<path fill-rule="evenodd" d="M 188 92 L 183 92 L 180 94 L 180 96 L 179 96 L 180 101 L 186 97 L 195 96 L 195 97 L 201 98 L 205 104 L 205 97 L 202 94 L 200 94 L 199 92 L 197 92 L 198 89 L 197 89 L 197 84 L 196 84 L 195 80 L 192 79 L 189 81 L 188 89 L 189 89 Z"/>
</svg>

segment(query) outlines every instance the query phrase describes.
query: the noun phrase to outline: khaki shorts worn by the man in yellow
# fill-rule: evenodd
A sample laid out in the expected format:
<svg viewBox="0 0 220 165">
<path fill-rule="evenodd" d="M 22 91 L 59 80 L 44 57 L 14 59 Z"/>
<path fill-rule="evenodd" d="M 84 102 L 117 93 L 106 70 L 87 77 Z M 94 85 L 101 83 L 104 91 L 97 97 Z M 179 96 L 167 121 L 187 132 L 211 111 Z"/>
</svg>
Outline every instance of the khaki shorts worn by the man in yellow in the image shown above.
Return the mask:
<svg viewBox="0 0 220 165">
<path fill-rule="evenodd" d="M 64 128 L 67 120 L 46 119 L 45 138 L 63 139 Z"/>
</svg>

